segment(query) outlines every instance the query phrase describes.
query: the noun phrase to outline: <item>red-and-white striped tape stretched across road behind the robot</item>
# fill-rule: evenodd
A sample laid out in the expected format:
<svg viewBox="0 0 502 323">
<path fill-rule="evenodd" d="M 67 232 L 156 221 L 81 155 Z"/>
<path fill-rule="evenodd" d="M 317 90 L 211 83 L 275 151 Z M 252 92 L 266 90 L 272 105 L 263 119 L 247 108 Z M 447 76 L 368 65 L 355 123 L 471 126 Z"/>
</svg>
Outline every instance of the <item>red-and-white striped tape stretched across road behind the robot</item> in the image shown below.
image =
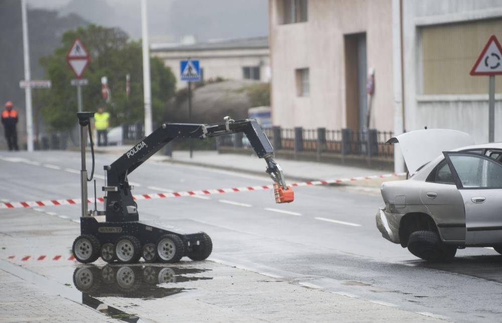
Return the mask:
<svg viewBox="0 0 502 323">
<path fill-rule="evenodd" d="M 364 180 L 374 180 L 390 177 L 405 176 L 406 173 L 394 173 L 394 174 L 383 174 L 383 175 L 373 175 L 373 176 L 361 176 L 346 179 L 335 179 L 328 181 L 311 181 L 311 182 L 301 182 L 292 183 L 291 187 L 300 186 L 311 186 L 311 185 L 327 185 L 327 184 L 339 184 L 354 181 L 364 181 Z M 194 196 L 194 195 L 210 195 L 210 194 L 221 194 L 221 193 L 233 193 L 233 192 L 249 192 L 249 191 L 261 191 L 261 190 L 272 190 L 274 187 L 272 185 L 261 185 L 261 186 L 244 186 L 229 189 L 212 189 L 212 190 L 199 190 L 199 191 L 186 191 L 186 192 L 174 192 L 174 193 L 151 193 L 151 194 L 139 194 L 134 195 L 135 200 L 150 200 L 150 199 L 164 199 L 164 198 L 177 198 L 184 196 Z M 98 202 L 103 202 L 103 198 L 97 198 Z M 80 204 L 80 199 L 62 199 L 62 200 L 45 200 L 45 201 L 31 201 L 31 202 L 2 202 L 0 203 L 0 209 L 19 209 L 19 208 L 30 208 L 30 207 L 40 207 L 40 206 L 54 206 L 54 205 L 72 205 Z M 94 203 L 94 199 L 88 199 L 87 203 Z"/>
</svg>

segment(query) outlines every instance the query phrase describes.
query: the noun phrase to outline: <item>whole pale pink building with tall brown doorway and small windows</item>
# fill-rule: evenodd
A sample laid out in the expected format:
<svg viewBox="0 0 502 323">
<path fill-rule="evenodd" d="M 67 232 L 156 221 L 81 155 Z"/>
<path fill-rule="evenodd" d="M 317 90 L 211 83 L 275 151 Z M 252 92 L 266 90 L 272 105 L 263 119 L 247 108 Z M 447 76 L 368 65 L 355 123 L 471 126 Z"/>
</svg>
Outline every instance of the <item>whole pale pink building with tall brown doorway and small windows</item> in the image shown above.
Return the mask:
<svg viewBox="0 0 502 323">
<path fill-rule="evenodd" d="M 270 0 L 273 123 L 392 130 L 391 0 Z M 374 70 L 374 93 L 366 94 Z"/>
</svg>

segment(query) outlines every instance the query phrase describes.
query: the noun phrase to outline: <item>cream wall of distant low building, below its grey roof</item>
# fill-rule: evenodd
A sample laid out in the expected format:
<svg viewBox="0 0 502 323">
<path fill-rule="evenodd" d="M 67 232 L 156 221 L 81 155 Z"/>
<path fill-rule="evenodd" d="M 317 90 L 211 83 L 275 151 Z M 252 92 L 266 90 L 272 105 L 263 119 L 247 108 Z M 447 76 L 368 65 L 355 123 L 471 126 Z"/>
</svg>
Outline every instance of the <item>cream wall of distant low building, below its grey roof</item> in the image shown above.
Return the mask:
<svg viewBox="0 0 502 323">
<path fill-rule="evenodd" d="M 176 76 L 177 89 L 186 87 L 186 82 L 180 80 L 180 60 L 191 57 L 200 60 L 204 70 L 204 79 L 221 77 L 227 80 L 242 80 L 242 67 L 260 66 L 260 80 L 269 82 L 270 58 L 268 49 L 227 49 L 200 51 L 165 51 L 154 52 L 164 60 Z"/>
</svg>

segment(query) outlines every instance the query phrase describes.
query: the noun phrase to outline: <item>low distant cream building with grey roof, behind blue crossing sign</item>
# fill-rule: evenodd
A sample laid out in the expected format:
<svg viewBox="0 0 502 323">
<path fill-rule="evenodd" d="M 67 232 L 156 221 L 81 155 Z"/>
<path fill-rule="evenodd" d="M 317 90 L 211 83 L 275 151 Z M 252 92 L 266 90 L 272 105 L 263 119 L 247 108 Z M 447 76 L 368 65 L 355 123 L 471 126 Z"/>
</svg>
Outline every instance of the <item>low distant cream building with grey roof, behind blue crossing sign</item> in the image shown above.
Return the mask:
<svg viewBox="0 0 502 323">
<path fill-rule="evenodd" d="M 177 88 L 186 87 L 180 80 L 180 60 L 200 60 L 203 80 L 258 80 L 269 82 L 270 59 L 267 37 L 213 41 L 192 45 L 151 46 L 152 55 L 162 58 L 173 71 Z"/>
</svg>

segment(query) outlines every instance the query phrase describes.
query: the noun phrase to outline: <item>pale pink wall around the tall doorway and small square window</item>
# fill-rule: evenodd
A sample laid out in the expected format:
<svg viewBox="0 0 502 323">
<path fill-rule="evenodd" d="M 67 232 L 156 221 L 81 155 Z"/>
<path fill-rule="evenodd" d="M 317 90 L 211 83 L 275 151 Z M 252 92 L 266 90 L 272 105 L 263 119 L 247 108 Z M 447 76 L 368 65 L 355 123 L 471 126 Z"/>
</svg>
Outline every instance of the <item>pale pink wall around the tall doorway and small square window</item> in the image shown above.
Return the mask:
<svg viewBox="0 0 502 323">
<path fill-rule="evenodd" d="M 311 0 L 308 21 L 287 25 L 280 23 L 282 1 L 269 1 L 273 123 L 345 127 L 344 36 L 366 33 L 367 67 L 375 69 L 376 84 L 370 127 L 392 130 L 392 1 Z M 309 97 L 297 96 L 299 68 L 310 69 Z"/>
</svg>

